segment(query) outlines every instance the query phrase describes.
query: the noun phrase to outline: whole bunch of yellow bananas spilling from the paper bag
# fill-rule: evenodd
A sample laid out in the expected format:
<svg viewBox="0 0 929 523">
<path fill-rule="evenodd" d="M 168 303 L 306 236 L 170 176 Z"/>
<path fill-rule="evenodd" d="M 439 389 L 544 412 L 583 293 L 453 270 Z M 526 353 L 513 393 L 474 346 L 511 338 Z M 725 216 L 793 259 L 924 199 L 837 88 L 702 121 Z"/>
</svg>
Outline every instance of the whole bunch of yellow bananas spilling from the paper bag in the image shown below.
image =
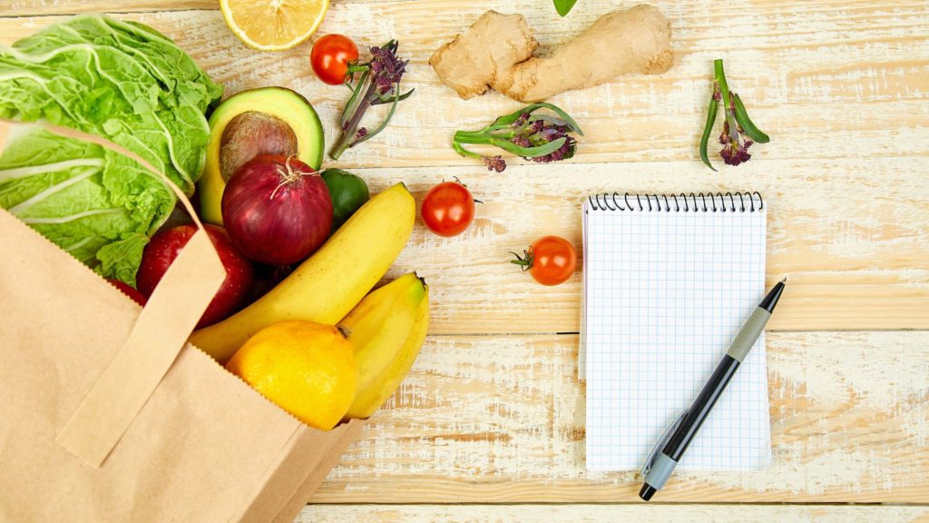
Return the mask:
<svg viewBox="0 0 929 523">
<path fill-rule="evenodd" d="M 338 322 L 352 343 L 359 378 L 345 417 L 368 418 L 403 381 L 429 327 L 429 290 L 415 273 L 368 293 L 406 245 L 415 218 L 415 202 L 402 183 L 375 195 L 275 288 L 195 331 L 190 342 L 225 363 L 272 324 Z"/>
</svg>

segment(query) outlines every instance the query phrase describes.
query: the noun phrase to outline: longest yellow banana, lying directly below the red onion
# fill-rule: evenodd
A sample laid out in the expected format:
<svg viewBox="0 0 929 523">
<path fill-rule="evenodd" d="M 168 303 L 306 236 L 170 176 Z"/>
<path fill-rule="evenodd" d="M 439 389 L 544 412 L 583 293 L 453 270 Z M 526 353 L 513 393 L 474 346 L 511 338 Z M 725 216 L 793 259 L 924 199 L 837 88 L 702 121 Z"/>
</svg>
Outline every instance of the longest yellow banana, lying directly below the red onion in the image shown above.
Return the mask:
<svg viewBox="0 0 929 523">
<path fill-rule="evenodd" d="M 190 342 L 225 362 L 258 330 L 285 319 L 334 325 L 387 272 L 406 245 L 416 204 L 398 183 L 375 195 L 306 262 L 257 302 Z"/>
</svg>

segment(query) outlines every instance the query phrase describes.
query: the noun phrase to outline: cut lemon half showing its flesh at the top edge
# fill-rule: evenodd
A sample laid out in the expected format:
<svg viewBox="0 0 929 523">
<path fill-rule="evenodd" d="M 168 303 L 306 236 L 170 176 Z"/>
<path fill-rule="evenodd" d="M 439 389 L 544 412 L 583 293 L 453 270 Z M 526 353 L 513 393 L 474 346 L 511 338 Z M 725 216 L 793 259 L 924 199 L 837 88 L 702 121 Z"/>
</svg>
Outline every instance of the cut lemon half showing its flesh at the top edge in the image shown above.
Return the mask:
<svg viewBox="0 0 929 523">
<path fill-rule="evenodd" d="M 329 0 L 219 0 L 223 18 L 248 47 L 278 51 L 316 32 Z"/>
</svg>

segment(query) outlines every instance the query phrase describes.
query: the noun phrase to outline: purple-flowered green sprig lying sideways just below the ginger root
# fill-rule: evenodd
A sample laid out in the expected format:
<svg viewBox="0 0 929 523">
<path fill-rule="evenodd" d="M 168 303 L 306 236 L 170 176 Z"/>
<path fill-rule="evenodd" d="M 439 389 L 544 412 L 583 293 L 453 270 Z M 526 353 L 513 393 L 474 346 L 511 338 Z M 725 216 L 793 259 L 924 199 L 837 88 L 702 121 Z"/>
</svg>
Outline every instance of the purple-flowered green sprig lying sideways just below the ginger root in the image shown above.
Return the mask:
<svg viewBox="0 0 929 523">
<path fill-rule="evenodd" d="M 536 111 L 548 109 L 553 114 Z M 488 170 L 502 172 L 506 168 L 503 156 L 484 156 L 464 149 L 464 144 L 487 144 L 533 162 L 556 162 L 574 155 L 577 140 L 571 133 L 583 136 L 577 122 L 551 103 L 533 103 L 493 121 L 478 131 L 457 131 L 451 146 L 458 154 L 484 161 Z"/>
</svg>

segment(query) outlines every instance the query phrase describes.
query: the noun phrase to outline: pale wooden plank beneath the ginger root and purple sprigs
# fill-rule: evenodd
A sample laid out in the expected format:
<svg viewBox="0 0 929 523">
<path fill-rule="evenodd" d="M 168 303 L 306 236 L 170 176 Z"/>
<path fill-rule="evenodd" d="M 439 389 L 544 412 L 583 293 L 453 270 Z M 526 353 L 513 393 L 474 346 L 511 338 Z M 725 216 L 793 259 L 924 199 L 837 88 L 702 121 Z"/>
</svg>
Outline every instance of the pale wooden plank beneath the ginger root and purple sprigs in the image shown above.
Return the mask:
<svg viewBox="0 0 929 523">
<path fill-rule="evenodd" d="M 681 2 L 662 6 L 672 20 L 678 63 L 661 76 L 624 76 L 601 87 L 565 93 L 556 103 L 586 131 L 576 163 L 688 160 L 697 142 L 710 90 L 712 60 L 725 57 L 730 82 L 773 141 L 756 146 L 759 158 L 883 156 L 905 148 L 929 154 L 929 9 L 922 2 L 761 3 Z M 468 165 L 449 141 L 457 128 L 479 128 L 517 102 L 491 94 L 459 100 L 426 64 L 443 42 L 487 8 L 523 12 L 543 43 L 578 33 L 615 3 L 582 2 L 566 19 L 535 0 L 453 0 L 336 3 L 320 34 L 364 28 L 360 46 L 397 37 L 412 59 L 407 75 L 417 91 L 401 104 L 381 136 L 343 156 L 344 167 Z M 321 114 L 330 141 L 344 88 L 317 81 L 307 65 L 309 44 L 257 52 L 233 36 L 216 10 L 121 15 L 149 23 L 177 39 L 233 93 L 280 85 L 304 94 Z M 61 17 L 0 20 L 0 41 L 12 42 Z M 739 32 L 720 27 L 739 24 Z M 386 109 L 386 108 L 384 108 Z M 728 170 L 728 169 L 727 169 Z M 741 168 L 739 168 L 741 170 Z"/>
</svg>

